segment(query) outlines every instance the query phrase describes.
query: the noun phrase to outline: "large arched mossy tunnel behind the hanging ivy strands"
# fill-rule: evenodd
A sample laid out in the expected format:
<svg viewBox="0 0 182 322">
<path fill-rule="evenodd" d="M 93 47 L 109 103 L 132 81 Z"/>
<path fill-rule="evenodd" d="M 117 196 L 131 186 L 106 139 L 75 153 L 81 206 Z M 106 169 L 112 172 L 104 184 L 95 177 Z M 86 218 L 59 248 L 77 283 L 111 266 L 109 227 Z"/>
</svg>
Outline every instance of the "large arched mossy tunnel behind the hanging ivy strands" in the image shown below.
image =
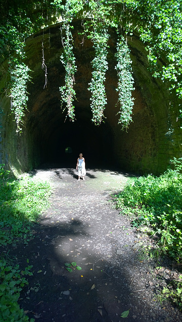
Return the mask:
<svg viewBox="0 0 182 322">
<path fill-rule="evenodd" d="M 64 85 L 65 70 L 60 55 L 63 51 L 60 24 L 44 28 L 26 40 L 26 64 L 32 81 L 28 84 L 28 111 L 21 135 L 10 113 L 10 98 L 1 94 L 2 130 L 0 163 L 14 173 L 30 171 L 43 164 L 60 164 L 74 168 L 81 152 L 86 167 L 117 167 L 139 174 L 160 174 L 170 158 L 181 156 L 181 129 L 177 108 L 170 108 L 165 85 L 152 77 L 147 53 L 139 35 L 128 39 L 131 51 L 135 90 L 133 122 L 124 131 L 118 124 L 118 79 L 116 66 L 117 34 L 110 30 L 108 70 L 106 72 L 107 105 L 100 126 L 92 122 L 88 84 L 92 78 L 95 57 L 90 39 L 82 41 L 81 21 L 73 22 L 74 55 L 77 71 L 74 90 L 75 121 L 69 120 L 61 107 L 59 87 Z M 44 54 L 47 66 L 42 69 Z M 1 86 L 6 77 L 1 75 Z M 71 152 L 66 153 L 70 147 Z"/>
</svg>

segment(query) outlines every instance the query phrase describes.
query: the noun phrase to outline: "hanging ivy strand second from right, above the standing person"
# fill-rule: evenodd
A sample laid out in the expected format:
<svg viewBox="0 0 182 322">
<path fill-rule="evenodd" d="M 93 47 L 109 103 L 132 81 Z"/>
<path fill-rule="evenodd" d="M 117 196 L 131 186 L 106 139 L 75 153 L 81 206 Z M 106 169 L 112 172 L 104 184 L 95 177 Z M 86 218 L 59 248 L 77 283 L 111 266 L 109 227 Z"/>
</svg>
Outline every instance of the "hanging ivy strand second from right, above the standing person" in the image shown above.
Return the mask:
<svg viewBox="0 0 182 322">
<path fill-rule="evenodd" d="M 92 121 L 99 125 L 103 118 L 103 112 L 105 105 L 107 104 L 106 90 L 105 90 L 105 79 L 106 71 L 108 69 L 107 62 L 107 47 L 109 34 L 105 26 L 101 27 L 97 25 L 94 32 L 91 34 L 93 46 L 96 51 L 96 56 L 92 61 L 93 72 L 92 80 L 89 83 L 88 90 L 92 93 L 91 109 L 93 112 Z"/>
</svg>

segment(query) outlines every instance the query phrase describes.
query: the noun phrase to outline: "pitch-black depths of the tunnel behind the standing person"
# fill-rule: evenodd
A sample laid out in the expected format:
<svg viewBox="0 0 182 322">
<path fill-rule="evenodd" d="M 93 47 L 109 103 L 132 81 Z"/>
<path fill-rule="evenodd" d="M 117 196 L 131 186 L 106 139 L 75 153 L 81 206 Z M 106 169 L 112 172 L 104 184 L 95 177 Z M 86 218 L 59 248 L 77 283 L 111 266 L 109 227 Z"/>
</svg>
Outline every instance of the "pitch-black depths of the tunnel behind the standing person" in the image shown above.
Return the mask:
<svg viewBox="0 0 182 322">
<path fill-rule="evenodd" d="M 75 122 L 64 122 L 61 118 L 51 125 L 39 144 L 41 163 L 74 168 L 79 153 L 83 154 L 87 168 L 114 163 L 113 133 L 107 122 L 95 126 L 90 118 L 79 117 Z M 67 147 L 70 147 L 68 153 Z"/>
</svg>

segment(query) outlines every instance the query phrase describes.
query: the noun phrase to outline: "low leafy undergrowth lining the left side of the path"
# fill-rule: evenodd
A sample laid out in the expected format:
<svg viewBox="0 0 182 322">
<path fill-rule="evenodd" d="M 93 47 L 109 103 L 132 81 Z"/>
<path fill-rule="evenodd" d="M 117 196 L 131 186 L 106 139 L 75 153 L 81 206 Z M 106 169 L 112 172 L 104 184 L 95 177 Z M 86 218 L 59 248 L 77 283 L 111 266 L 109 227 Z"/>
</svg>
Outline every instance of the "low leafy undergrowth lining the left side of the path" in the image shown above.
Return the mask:
<svg viewBox="0 0 182 322">
<path fill-rule="evenodd" d="M 10 171 L 0 165 L 0 246 L 27 244 L 33 238 L 32 223 L 48 206 L 51 188 L 41 182 L 23 176 L 14 180 Z M 29 263 L 29 260 L 27 260 Z M 22 270 L 6 253 L 0 257 L 0 320 L 7 322 L 29 321 L 18 299 L 28 285 L 26 275 L 33 275 L 31 265 Z M 30 322 L 34 319 L 31 318 Z"/>
</svg>

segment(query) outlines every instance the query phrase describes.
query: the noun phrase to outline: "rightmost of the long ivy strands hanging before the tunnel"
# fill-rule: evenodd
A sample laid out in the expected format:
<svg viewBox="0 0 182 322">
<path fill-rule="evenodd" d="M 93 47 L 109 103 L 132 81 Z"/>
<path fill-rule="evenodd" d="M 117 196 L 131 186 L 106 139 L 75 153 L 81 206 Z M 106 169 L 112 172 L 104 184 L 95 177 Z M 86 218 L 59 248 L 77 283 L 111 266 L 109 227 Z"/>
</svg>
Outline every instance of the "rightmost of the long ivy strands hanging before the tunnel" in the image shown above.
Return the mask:
<svg viewBox="0 0 182 322">
<path fill-rule="evenodd" d="M 118 101 L 120 104 L 120 111 L 118 112 L 120 118 L 118 123 L 121 124 L 122 129 L 124 129 L 128 128 L 130 122 L 132 121 L 131 115 L 134 105 L 132 91 L 134 90 L 134 79 L 132 76 L 130 50 L 126 40 L 122 36 L 117 43 L 116 58 L 118 63 L 115 68 L 118 73 L 117 91 L 119 92 Z"/>
</svg>

